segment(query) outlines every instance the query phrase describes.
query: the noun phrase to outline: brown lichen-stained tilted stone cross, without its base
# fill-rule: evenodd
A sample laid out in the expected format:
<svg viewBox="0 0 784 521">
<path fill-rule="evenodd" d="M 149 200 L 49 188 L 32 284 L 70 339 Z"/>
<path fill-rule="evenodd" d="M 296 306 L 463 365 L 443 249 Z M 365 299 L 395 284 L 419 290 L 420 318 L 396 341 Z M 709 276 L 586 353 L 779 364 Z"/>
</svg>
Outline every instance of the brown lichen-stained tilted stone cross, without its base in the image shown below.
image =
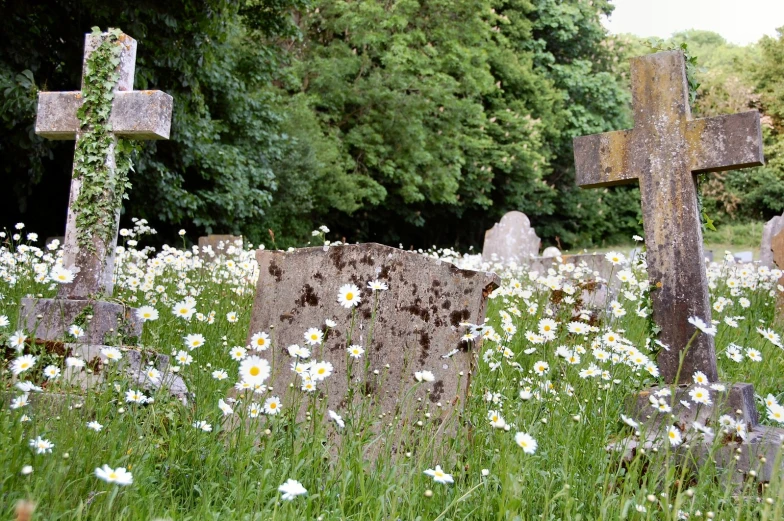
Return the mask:
<svg viewBox="0 0 784 521">
<path fill-rule="evenodd" d="M 694 333 L 688 318 L 711 320 L 695 174 L 763 164 L 762 132 L 757 111 L 692 119 L 681 51 L 634 58 L 631 73 L 634 128 L 575 138 L 577 184 L 640 184 L 653 318 L 669 346 L 658 363 L 674 383 Z M 680 381 L 695 371 L 718 378 L 706 334 L 686 351 Z"/>
</svg>

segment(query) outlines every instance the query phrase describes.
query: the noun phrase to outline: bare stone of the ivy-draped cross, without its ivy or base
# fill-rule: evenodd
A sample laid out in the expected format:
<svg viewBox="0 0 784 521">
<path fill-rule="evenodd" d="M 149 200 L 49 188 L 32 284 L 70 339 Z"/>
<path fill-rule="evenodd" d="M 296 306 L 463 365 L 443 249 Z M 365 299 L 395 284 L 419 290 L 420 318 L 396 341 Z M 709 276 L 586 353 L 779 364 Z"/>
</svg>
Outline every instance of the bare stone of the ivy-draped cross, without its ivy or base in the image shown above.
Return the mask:
<svg viewBox="0 0 784 521">
<path fill-rule="evenodd" d="M 87 59 L 101 44 L 101 37 L 87 34 L 84 43 L 84 62 L 82 69 L 82 89 L 86 73 Z M 133 90 L 133 76 L 136 66 L 136 40 L 121 34 L 118 45 L 122 46 L 118 65 L 119 81 L 115 87 L 112 112 L 109 117 L 113 144 L 109 148 L 106 165 L 110 175 L 114 175 L 115 146 L 117 138 L 127 139 L 169 139 L 171 128 L 172 97 L 157 90 Z M 38 95 L 38 116 L 35 133 L 49 139 L 79 139 L 80 124 L 76 116 L 82 104 L 81 91 L 41 92 Z M 71 178 L 71 195 L 68 203 L 68 220 L 65 228 L 63 265 L 76 271 L 71 284 L 60 285 L 60 298 L 86 298 L 91 295 L 111 295 L 113 289 L 114 250 L 117 245 L 117 232 L 120 226 L 120 208 L 114 215 L 114 235 L 105 241 L 93 234 L 94 248 L 80 248 L 77 242 L 77 214 L 74 201 L 79 196 L 81 179 Z M 104 192 L 103 197 L 114 194 Z"/>
</svg>

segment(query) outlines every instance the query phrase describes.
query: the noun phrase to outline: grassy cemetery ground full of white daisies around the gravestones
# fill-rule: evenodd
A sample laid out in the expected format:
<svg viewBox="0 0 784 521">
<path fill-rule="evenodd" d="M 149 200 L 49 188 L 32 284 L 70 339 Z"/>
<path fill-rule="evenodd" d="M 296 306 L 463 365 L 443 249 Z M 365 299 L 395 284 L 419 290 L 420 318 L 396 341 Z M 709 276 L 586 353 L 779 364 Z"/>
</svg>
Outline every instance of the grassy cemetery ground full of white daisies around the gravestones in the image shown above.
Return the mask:
<svg viewBox="0 0 784 521">
<path fill-rule="evenodd" d="M 112 359 L 127 356 L 122 350 L 104 353 L 103 363 L 69 358 L 65 346 L 79 342 L 89 316 L 73 324 L 63 343 L 36 343 L 20 332 L 21 299 L 53 296 L 70 274 L 60 267 L 56 244 L 47 248 L 20 227 L 3 238 L 4 518 L 32 504 L 40 519 L 784 515 L 780 472 L 761 483 L 753 470 L 738 472 L 732 458 L 695 464 L 701 436 L 714 440 L 712 455 L 731 451 L 746 436 L 732 415 L 715 424 L 671 425 L 667 439 L 631 456 L 607 450 L 645 435 L 646 425 L 625 416 L 624 402 L 658 382 L 660 347 L 648 340 L 650 288 L 640 265 L 620 259 L 613 277 L 621 291 L 608 297 L 601 313 L 582 307 L 581 292 L 592 275 L 579 267 L 554 264 L 537 276 L 503 270 L 489 322 L 464 328 L 476 355 L 466 402 L 404 397 L 405 411 L 379 414 L 363 401 L 328 410 L 322 397 L 347 378 L 337 372 L 313 378 L 316 372 L 308 371 L 315 392 L 264 388 L 270 382 L 263 381 L 263 367 L 254 371 L 253 357 L 270 349 L 276 332 L 251 332 L 258 334 L 247 345 L 258 276 L 252 251 L 205 261 L 182 245 L 144 248 L 147 233 L 143 221 L 121 232 L 114 296 L 140 310 L 145 328 L 134 345 L 170 356 L 171 370 L 187 383 L 185 400 L 117 371 Z M 430 255 L 480 267 L 450 251 Z M 721 255 L 717 260 L 708 269 L 715 323 L 697 334 L 715 334 L 721 381 L 753 383 L 761 423 L 778 425 L 784 420 L 778 405 L 784 361 L 773 321 L 781 273 L 725 262 Z M 394 283 L 378 288 L 360 290 L 366 304 L 395 298 Z M 378 371 L 383 382 L 385 368 L 367 367 L 362 349 L 352 347 L 352 324 L 328 325 L 332 318 L 312 324 L 315 337 L 297 332 L 303 341 L 292 351 L 292 363 L 318 364 L 330 333 L 340 332 L 352 367 Z M 118 337 L 115 345 L 131 340 Z M 160 380 L 164 375 L 154 369 L 145 369 L 142 379 Z M 438 377 L 441 368 L 430 370 Z M 98 383 L 85 391 L 73 375 L 87 371 Z M 429 388 L 431 376 L 411 374 L 407 392 Z M 711 383 L 692 377 L 695 392 L 687 405 L 698 409 Z M 308 380 L 302 382 L 305 387 Z M 675 405 L 665 393 L 659 398 L 654 406 L 662 412 L 652 406 L 652 417 L 666 417 Z M 307 414 L 294 413 L 299 403 Z"/>
</svg>

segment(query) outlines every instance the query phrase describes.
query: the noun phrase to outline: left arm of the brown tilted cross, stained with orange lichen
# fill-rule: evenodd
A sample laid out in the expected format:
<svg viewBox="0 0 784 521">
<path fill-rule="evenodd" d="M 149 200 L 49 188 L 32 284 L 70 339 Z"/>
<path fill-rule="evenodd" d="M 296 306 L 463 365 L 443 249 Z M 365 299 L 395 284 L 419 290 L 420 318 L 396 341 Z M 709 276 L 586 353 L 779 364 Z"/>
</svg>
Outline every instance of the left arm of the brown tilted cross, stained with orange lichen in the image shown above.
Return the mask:
<svg viewBox="0 0 784 521">
<path fill-rule="evenodd" d="M 632 165 L 632 131 L 574 138 L 574 168 L 583 188 L 633 182 L 638 175 Z"/>
</svg>

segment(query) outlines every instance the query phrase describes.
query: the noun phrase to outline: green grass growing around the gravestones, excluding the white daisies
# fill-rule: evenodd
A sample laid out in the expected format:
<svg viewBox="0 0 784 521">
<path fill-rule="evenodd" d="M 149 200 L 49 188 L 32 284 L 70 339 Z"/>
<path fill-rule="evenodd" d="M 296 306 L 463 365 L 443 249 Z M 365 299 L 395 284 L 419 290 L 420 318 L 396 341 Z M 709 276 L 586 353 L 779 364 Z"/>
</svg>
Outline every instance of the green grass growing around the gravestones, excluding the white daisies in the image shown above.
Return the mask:
<svg viewBox="0 0 784 521">
<path fill-rule="evenodd" d="M 35 280 L 35 266 L 42 265 L 39 269 L 46 272 L 56 256 L 38 258 L 35 250 L 19 248 L 18 243 L 7 248 L 0 251 L 0 315 L 14 324 L 24 295 L 53 295 L 52 283 Z M 598 330 L 581 336 L 567 331 L 567 324 L 579 320 L 582 311 L 579 302 L 564 299 L 569 287 L 581 283 L 575 273 L 562 272 L 543 282 L 531 282 L 524 273 L 506 273 L 505 285 L 493 296 L 488 311 L 499 338 L 477 347 L 477 368 L 463 409 L 425 401 L 412 406 L 407 415 L 382 418 L 346 409 L 338 411 L 346 421 L 340 429 L 326 420 L 325 401 L 313 395 L 281 393 L 281 414 L 250 418 L 245 405 L 251 400 L 261 403 L 269 394 L 254 397 L 232 389 L 239 364 L 229 350 L 245 345 L 254 294 L 252 254 L 232 258 L 233 265 L 224 259 L 217 269 L 208 270 L 193 265 L 182 251 L 161 253 L 160 267 L 154 265 L 154 255 L 129 248 L 119 262 L 116 296 L 137 307 L 153 305 L 160 312 L 145 326 L 140 343 L 146 349 L 172 353 L 184 349 L 185 335 L 204 335 L 205 344 L 191 352 L 193 363 L 180 370 L 195 397 L 183 405 L 159 392 L 152 404 L 126 403 L 131 385 L 109 370 L 100 386 L 83 395 L 62 379 L 47 382 L 44 394 L 68 394 L 72 404 L 83 404 L 79 408 L 41 401 L 12 410 L 6 398 L 0 406 L 3 517 L 12 517 L 18 500 L 29 499 L 38 505 L 37 518 L 47 520 L 670 520 L 678 511 L 692 519 L 706 518 L 708 512 L 714 519 L 782 518 L 780 475 L 767 487 L 751 477 L 736 485 L 731 465 L 684 465 L 666 443 L 657 452 L 638 452 L 628 462 L 605 450 L 609 443 L 634 434 L 620 421 L 624 400 L 658 383 L 644 367 L 598 362 L 592 347 L 605 332 L 614 331 L 637 353 L 654 358 L 655 352 L 646 346 L 648 319 L 636 313 L 638 285 L 627 283 L 629 295 L 638 300 L 620 300 L 625 314 L 602 315 L 595 322 Z M 774 278 L 722 269 L 711 273 L 712 300 L 724 297 L 729 302 L 714 318 L 744 317 L 738 327 L 718 326 L 722 380 L 749 381 L 761 396 L 780 396 L 781 350 L 756 331 L 772 321 L 773 299 L 767 288 Z M 639 270 L 635 276 L 644 280 Z M 753 282 L 755 289 L 746 287 L 731 295 L 728 281 L 740 281 L 741 286 Z M 548 287 L 556 282 L 559 289 Z M 394 292 L 392 285 L 380 298 L 395 298 Z M 171 312 L 187 293 L 194 295 L 204 320 L 194 316 L 186 321 Z M 749 299 L 749 307 L 741 306 L 741 297 Z M 227 320 L 230 312 L 238 314 L 237 322 Z M 502 312 L 508 314 L 507 321 Z M 532 343 L 526 333 L 538 332 L 547 317 L 557 324 L 554 338 Z M 502 335 L 502 327 L 510 324 L 517 332 Z M 8 346 L 13 332 L 11 326 L 0 328 L 0 345 Z M 757 349 L 763 361 L 745 356 L 741 362 L 730 360 L 726 350 L 731 343 Z M 556 355 L 562 345 L 578 351 L 580 362 L 571 364 Z M 611 353 L 620 347 L 603 349 Z M 63 365 L 40 346 L 26 350 L 39 356 L 35 369 L 22 374 L 27 379 L 41 383 L 46 365 Z M 13 388 L 9 371 L 16 356 L 6 347 L 0 365 L 0 390 L 7 397 L 21 394 Z M 542 375 L 534 371 L 540 361 L 549 365 Z M 607 379 L 580 376 L 592 363 L 608 372 Z M 229 378 L 214 379 L 216 369 L 226 370 Z M 427 384 L 412 378 L 411 388 L 423 385 Z M 275 390 L 279 391 L 283 390 Z M 523 399 L 521 391 L 531 396 Z M 218 401 L 228 397 L 238 402 L 233 404 L 234 414 L 224 416 Z M 297 420 L 292 403 L 299 400 L 308 402 L 311 414 Z M 764 405 L 759 407 L 770 423 Z M 490 425 L 490 410 L 504 417 L 508 431 Z M 29 421 L 22 421 L 23 415 Z M 439 425 L 442 419 L 451 423 Z M 101 432 L 86 427 L 92 420 L 103 425 Z M 209 422 L 212 432 L 192 426 L 200 420 Z M 533 454 L 515 443 L 517 432 L 535 438 L 538 448 Z M 685 435 L 693 436 L 691 431 Z M 51 453 L 36 454 L 29 447 L 28 441 L 36 436 L 54 443 Z M 133 484 L 120 487 L 97 479 L 94 470 L 103 464 L 127 467 Z M 31 474 L 22 473 L 26 465 L 32 466 Z M 453 484 L 436 483 L 424 474 L 436 465 L 453 476 Z M 307 494 L 282 501 L 277 489 L 289 478 L 299 480 Z"/>
</svg>

